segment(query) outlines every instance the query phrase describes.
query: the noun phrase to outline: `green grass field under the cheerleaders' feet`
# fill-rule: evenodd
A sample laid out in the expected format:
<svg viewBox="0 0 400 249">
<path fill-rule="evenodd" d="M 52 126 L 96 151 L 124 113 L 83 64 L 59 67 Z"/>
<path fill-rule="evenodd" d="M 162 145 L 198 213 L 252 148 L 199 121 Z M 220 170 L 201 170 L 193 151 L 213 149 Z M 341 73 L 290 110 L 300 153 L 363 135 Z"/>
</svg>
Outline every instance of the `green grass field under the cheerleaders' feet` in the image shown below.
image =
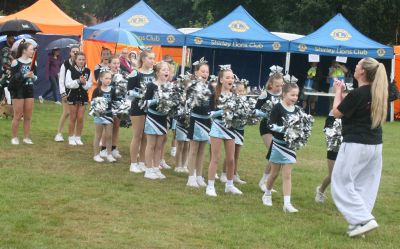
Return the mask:
<svg viewBox="0 0 400 249">
<path fill-rule="evenodd" d="M 257 183 L 266 150 L 258 126 L 246 129 L 244 195 L 225 195 L 218 182 L 218 198 L 207 198 L 204 189 L 185 187 L 184 174 L 165 171 L 167 179 L 149 181 L 129 173 L 130 129 L 121 130 L 123 158 L 115 164 L 92 160 L 91 117 L 83 147 L 54 142 L 60 109 L 35 103 L 33 146 L 12 146 L 10 120 L 0 119 L 0 248 L 399 248 L 399 123 L 384 126 L 374 209 L 380 228 L 365 239 L 350 239 L 330 192 L 325 204 L 314 202 L 326 174 L 324 118 L 316 119 L 293 171 L 292 202 L 300 212 L 285 214 L 280 178 L 274 206 L 261 203 Z M 173 158 L 166 159 L 173 165 Z"/>
</svg>

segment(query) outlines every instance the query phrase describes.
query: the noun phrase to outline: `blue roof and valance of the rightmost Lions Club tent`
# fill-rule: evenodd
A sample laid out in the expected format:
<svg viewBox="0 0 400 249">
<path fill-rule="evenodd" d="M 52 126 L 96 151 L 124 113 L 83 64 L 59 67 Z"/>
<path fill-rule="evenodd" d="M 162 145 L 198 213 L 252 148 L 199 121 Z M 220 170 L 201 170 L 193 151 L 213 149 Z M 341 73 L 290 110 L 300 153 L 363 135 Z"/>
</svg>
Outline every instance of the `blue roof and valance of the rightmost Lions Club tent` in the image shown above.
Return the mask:
<svg viewBox="0 0 400 249">
<path fill-rule="evenodd" d="M 369 39 L 337 14 L 315 32 L 290 43 L 290 52 L 392 59 L 393 48 Z"/>
</svg>

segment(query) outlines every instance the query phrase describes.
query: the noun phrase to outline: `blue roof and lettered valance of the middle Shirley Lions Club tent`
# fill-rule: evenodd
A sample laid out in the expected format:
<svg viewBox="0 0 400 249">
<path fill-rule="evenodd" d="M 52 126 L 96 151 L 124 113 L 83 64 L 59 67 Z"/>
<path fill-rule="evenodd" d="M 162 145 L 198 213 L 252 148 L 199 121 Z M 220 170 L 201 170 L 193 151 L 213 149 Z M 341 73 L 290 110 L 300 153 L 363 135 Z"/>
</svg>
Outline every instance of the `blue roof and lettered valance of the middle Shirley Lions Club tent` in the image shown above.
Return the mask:
<svg viewBox="0 0 400 249">
<path fill-rule="evenodd" d="M 242 6 L 223 19 L 186 36 L 186 45 L 250 51 L 287 52 L 289 42 L 271 34 Z"/>
</svg>

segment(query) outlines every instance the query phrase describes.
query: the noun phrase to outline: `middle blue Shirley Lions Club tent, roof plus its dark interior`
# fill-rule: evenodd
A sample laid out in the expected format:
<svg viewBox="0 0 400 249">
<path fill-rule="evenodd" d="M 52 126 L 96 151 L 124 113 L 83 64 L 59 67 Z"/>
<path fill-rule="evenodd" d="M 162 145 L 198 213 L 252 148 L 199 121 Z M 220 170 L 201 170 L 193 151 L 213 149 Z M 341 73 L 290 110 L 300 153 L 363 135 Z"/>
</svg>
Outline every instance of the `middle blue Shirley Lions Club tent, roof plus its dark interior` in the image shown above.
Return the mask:
<svg viewBox="0 0 400 249">
<path fill-rule="evenodd" d="M 212 60 L 209 62 L 211 72 L 217 71 L 220 64 L 232 64 L 239 77 L 260 86 L 261 82 L 265 82 L 262 76 L 267 75 L 270 65 L 285 65 L 289 42 L 271 34 L 242 6 L 238 6 L 218 22 L 188 34 L 186 46 L 196 47 L 193 59 L 208 55 L 206 58 Z M 277 53 L 266 56 L 265 52 Z M 266 64 L 265 61 L 271 57 L 273 59 Z"/>
</svg>

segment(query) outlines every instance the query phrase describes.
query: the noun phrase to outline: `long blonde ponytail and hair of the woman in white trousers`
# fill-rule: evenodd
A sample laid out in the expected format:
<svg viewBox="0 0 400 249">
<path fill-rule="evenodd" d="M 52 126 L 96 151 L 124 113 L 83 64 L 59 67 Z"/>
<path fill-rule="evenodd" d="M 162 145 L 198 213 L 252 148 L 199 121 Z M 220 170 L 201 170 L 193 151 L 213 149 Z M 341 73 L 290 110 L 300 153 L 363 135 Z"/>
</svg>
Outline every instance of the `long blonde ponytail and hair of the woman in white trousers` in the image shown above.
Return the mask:
<svg viewBox="0 0 400 249">
<path fill-rule="evenodd" d="M 371 84 L 371 129 L 381 126 L 386 121 L 388 108 L 388 79 L 385 66 L 373 58 L 365 58 L 362 68 L 366 79 Z"/>
</svg>

